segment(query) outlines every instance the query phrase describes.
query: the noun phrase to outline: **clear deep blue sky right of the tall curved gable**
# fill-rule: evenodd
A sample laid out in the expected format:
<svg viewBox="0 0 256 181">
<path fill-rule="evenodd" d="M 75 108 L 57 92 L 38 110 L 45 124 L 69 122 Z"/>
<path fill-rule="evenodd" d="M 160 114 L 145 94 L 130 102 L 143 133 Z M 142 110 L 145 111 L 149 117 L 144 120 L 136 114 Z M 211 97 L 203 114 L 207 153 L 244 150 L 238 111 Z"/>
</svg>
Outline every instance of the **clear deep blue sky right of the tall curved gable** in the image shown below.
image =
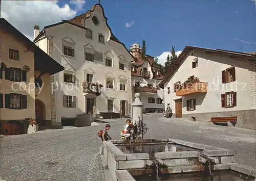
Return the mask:
<svg viewBox="0 0 256 181">
<path fill-rule="evenodd" d="M 90 9 L 97 1 L 87 1 Z M 242 51 L 256 42 L 256 9 L 251 0 L 101 1 L 114 35 L 127 47 L 146 40 L 147 54 L 159 56 L 175 45 Z M 71 5 L 72 7 L 72 5 Z M 83 10 L 77 14 L 84 13 Z M 125 22 L 134 21 L 130 28 Z M 255 51 L 255 44 L 244 45 Z"/>
</svg>

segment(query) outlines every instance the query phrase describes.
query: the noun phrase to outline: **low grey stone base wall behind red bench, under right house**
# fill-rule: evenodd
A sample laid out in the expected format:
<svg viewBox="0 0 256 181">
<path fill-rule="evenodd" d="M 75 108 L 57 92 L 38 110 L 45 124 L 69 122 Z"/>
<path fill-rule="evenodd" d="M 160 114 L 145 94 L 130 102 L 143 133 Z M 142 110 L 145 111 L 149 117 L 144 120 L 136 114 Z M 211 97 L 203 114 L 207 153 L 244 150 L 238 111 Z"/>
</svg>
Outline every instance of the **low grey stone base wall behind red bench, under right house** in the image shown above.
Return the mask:
<svg viewBox="0 0 256 181">
<path fill-rule="evenodd" d="M 225 111 L 214 113 L 197 113 L 197 114 L 183 114 L 182 117 L 193 121 L 192 117 L 196 118 L 196 121 L 207 122 L 211 117 L 229 117 L 237 116 L 238 121 L 236 127 L 242 127 L 250 130 L 256 130 L 256 110 L 242 110 L 242 111 Z M 175 114 L 173 115 L 175 118 Z"/>
</svg>

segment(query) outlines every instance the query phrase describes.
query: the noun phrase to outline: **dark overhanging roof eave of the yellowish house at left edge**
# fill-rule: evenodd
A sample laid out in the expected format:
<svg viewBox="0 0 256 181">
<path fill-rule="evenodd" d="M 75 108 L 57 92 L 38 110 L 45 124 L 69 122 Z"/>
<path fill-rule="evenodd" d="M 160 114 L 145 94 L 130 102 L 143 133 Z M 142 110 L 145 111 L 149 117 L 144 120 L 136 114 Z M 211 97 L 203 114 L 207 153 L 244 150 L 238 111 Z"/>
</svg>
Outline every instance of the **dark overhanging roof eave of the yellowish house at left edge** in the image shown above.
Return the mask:
<svg viewBox="0 0 256 181">
<path fill-rule="evenodd" d="M 58 62 L 36 46 L 30 41 L 25 35 L 20 33 L 16 28 L 13 27 L 7 20 L 1 18 L 0 20 L 1 30 L 8 29 L 8 32 L 12 33 L 20 41 L 27 44 L 29 48 L 34 49 L 34 66 L 35 70 L 39 70 L 41 73 L 50 73 L 51 75 L 60 72 L 64 69 Z"/>
</svg>

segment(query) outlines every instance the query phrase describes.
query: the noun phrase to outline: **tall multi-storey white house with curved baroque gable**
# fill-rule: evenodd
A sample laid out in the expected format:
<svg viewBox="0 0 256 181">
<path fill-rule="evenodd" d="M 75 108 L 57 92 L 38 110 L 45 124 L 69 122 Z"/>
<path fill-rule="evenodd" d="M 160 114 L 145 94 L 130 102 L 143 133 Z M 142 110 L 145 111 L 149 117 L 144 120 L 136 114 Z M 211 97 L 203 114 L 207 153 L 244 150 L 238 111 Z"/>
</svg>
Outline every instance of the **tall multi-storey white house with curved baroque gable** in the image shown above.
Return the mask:
<svg viewBox="0 0 256 181">
<path fill-rule="evenodd" d="M 134 58 L 113 35 L 100 4 L 34 32 L 35 44 L 65 67 L 52 77 L 54 125 L 77 114 L 130 115 Z"/>
</svg>

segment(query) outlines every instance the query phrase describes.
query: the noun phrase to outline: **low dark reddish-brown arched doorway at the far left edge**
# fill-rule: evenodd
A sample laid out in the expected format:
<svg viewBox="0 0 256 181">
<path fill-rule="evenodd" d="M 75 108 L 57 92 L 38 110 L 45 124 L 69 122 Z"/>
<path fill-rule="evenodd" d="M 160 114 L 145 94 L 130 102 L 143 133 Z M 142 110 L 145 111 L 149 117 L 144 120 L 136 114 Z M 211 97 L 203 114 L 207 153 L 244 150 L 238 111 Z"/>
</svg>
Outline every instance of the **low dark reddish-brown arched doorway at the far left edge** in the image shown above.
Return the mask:
<svg viewBox="0 0 256 181">
<path fill-rule="evenodd" d="M 24 125 L 19 121 L 8 121 L 2 125 L 1 132 L 3 135 L 24 134 Z"/>
</svg>

